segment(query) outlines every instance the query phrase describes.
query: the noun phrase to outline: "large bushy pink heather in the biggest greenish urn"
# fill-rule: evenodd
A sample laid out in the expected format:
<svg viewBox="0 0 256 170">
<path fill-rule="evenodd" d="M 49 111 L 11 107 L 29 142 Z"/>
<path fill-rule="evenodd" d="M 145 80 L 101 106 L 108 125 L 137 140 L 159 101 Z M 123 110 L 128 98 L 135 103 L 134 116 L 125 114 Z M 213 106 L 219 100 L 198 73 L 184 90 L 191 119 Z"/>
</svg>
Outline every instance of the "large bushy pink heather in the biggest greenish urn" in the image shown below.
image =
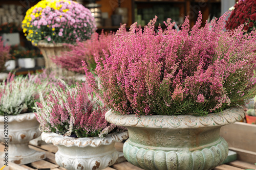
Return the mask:
<svg viewBox="0 0 256 170">
<path fill-rule="evenodd" d="M 255 31 L 224 32 L 226 16 L 200 29 L 200 13 L 191 30 L 186 18 L 179 32 L 168 19 L 155 33 L 157 17 L 143 31 L 137 23 L 128 34 L 121 28 L 103 66 L 96 58 L 101 88 L 85 66 L 88 82 L 120 114 L 206 115 L 243 105 L 256 94 Z"/>
</svg>

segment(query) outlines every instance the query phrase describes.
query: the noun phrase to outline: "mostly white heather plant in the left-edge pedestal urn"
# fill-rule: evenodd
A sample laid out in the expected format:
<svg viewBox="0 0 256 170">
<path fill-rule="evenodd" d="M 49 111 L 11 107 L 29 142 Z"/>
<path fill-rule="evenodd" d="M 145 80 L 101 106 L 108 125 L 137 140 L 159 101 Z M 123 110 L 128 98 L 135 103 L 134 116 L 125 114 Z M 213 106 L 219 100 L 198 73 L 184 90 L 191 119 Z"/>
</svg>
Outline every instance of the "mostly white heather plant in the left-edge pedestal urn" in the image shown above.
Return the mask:
<svg viewBox="0 0 256 170">
<path fill-rule="evenodd" d="M 36 83 L 37 76 L 23 77 L 9 74 L 7 81 L 0 83 L 0 115 L 34 111 L 34 102 L 39 98 L 38 91 L 47 92 L 48 82 Z"/>
</svg>

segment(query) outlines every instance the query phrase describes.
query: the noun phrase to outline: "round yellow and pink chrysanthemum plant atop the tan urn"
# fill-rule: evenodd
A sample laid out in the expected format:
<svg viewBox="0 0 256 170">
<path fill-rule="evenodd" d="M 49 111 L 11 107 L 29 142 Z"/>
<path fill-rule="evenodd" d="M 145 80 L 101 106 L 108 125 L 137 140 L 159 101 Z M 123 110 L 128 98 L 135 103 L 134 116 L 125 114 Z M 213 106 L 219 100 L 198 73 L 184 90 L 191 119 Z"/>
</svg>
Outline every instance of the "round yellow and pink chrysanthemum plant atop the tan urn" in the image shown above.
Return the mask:
<svg viewBox="0 0 256 170">
<path fill-rule="evenodd" d="M 70 0 L 43 0 L 26 12 L 22 22 L 27 39 L 37 45 L 49 43 L 75 43 L 90 39 L 96 30 L 89 9 Z"/>
</svg>

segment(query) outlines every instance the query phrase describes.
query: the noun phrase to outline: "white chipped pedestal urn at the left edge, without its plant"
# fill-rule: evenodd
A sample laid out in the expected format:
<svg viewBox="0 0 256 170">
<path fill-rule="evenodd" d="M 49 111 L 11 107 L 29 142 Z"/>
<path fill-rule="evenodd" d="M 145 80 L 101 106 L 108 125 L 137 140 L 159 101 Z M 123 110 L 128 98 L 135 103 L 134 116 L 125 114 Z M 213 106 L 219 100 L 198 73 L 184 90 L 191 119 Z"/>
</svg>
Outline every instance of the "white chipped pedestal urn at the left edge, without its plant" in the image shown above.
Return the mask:
<svg viewBox="0 0 256 170">
<path fill-rule="evenodd" d="M 7 130 L 4 130 L 4 125 Z M 34 113 L 0 116 L 0 140 L 8 145 L 8 160 L 16 164 L 27 164 L 45 159 L 44 152 L 29 148 L 29 141 L 40 136 L 39 123 Z M 2 157 L 2 156 L 1 156 Z"/>
</svg>

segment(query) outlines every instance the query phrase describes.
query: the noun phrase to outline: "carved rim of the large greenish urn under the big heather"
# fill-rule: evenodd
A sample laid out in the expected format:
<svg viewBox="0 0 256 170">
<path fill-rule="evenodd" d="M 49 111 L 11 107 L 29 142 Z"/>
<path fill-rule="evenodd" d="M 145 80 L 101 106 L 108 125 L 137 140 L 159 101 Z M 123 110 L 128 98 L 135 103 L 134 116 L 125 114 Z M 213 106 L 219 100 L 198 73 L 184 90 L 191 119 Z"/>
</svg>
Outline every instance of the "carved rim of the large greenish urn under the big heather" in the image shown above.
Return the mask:
<svg viewBox="0 0 256 170">
<path fill-rule="evenodd" d="M 245 112 L 242 107 L 233 107 L 207 116 L 119 115 L 109 110 L 105 114 L 105 119 L 111 124 L 124 127 L 184 129 L 224 126 L 240 121 L 244 116 Z"/>
</svg>

